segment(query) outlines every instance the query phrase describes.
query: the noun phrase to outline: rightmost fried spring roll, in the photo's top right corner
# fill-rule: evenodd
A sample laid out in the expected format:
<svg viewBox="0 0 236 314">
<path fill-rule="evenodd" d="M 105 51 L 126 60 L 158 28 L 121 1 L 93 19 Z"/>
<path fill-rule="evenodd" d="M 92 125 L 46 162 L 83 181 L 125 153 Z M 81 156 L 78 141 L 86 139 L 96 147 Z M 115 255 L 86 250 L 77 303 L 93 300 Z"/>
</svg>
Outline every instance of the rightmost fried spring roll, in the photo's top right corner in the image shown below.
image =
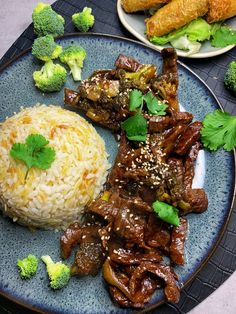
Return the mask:
<svg viewBox="0 0 236 314">
<path fill-rule="evenodd" d="M 209 11 L 206 19 L 214 23 L 236 15 L 236 0 L 209 0 Z"/>
</svg>

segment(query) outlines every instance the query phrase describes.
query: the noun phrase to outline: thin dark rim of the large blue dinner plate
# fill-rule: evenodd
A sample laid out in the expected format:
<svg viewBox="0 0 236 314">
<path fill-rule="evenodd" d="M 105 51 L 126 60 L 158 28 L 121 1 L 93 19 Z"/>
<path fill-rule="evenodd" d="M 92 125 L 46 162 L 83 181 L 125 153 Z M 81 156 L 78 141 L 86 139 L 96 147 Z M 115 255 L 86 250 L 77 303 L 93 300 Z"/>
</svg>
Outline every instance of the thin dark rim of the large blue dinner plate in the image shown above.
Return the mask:
<svg viewBox="0 0 236 314">
<path fill-rule="evenodd" d="M 118 0 L 119 2 L 120 0 Z M 111 35 L 111 34 L 103 34 L 103 33 L 91 33 L 91 32 L 87 32 L 87 33 L 76 33 L 76 32 L 72 32 L 72 33 L 66 33 L 63 36 L 57 37 L 56 40 L 61 40 L 61 39 L 65 39 L 65 38 L 70 38 L 70 37 L 80 37 L 80 36 L 87 36 L 87 37 L 105 37 L 105 38 L 110 38 L 110 39 L 115 39 L 115 40 L 122 40 L 122 41 L 126 41 L 126 42 L 131 42 L 133 44 L 136 45 L 140 45 L 143 48 L 148 48 L 153 50 L 155 53 L 160 54 L 160 51 L 154 49 L 153 47 L 151 47 L 150 45 L 146 45 L 143 42 L 139 42 L 137 40 L 134 39 L 129 39 L 129 38 L 125 38 L 122 36 L 117 36 L 117 35 Z M 18 59 L 20 59 L 21 57 L 23 57 L 24 55 L 26 55 L 27 53 L 29 53 L 31 51 L 32 47 L 29 47 L 25 50 L 23 50 L 22 52 L 20 52 L 19 54 L 17 54 L 16 56 L 10 58 L 7 62 L 5 62 L 3 65 L 0 66 L 0 75 L 1 73 L 11 64 L 13 64 L 14 62 L 16 62 Z M 215 93 L 211 90 L 211 88 L 206 84 L 206 82 L 199 77 L 192 69 L 190 69 L 187 65 L 185 65 L 183 62 L 181 62 L 180 60 L 177 60 L 178 64 L 180 64 L 185 70 L 187 70 L 188 72 L 190 72 L 192 75 L 194 75 L 195 78 L 197 78 L 198 80 L 201 81 L 201 83 L 203 83 L 203 85 L 208 89 L 208 91 L 210 92 L 210 94 L 213 96 L 213 98 L 216 101 L 216 104 L 218 105 L 218 107 L 224 112 L 224 109 L 220 103 L 220 101 L 218 100 L 218 98 L 216 97 Z M 206 264 L 208 263 L 208 261 L 210 260 L 210 258 L 212 257 L 212 255 L 215 253 L 216 249 L 218 248 L 220 241 L 223 238 L 223 235 L 228 227 L 230 218 L 232 216 L 232 212 L 234 209 L 234 205 L 236 204 L 236 149 L 234 149 L 232 152 L 230 152 L 230 154 L 233 156 L 233 182 L 234 182 L 234 188 L 232 191 L 232 199 L 230 200 L 230 207 L 228 208 L 227 211 L 227 216 L 225 217 L 222 226 L 217 234 L 217 237 L 215 239 L 215 242 L 213 242 L 211 244 L 211 246 L 208 248 L 208 252 L 205 255 L 205 257 L 203 258 L 203 261 L 201 262 L 201 265 L 195 269 L 195 271 L 190 275 L 190 277 L 181 285 L 181 289 L 180 291 L 182 291 L 183 288 L 185 288 L 192 280 L 194 280 L 194 278 L 197 276 L 197 274 L 206 266 Z M 22 300 L 16 299 L 14 297 L 12 297 L 10 294 L 5 293 L 4 291 L 2 291 L 2 289 L 0 289 L 0 295 L 3 296 L 4 298 L 6 298 L 7 300 L 16 303 L 26 309 L 29 309 L 31 311 L 34 311 L 35 313 L 40 313 L 40 314 L 46 314 L 48 312 L 45 312 L 44 310 L 40 309 L 40 308 L 35 308 L 33 306 L 31 306 L 29 303 L 26 303 Z M 155 304 L 152 304 L 150 306 L 145 307 L 144 309 L 140 310 L 140 311 L 136 311 L 136 313 L 146 313 L 147 311 L 153 310 L 155 308 L 157 308 L 158 306 L 160 306 L 161 304 L 165 303 L 166 300 L 160 300 L 158 302 L 156 302 Z"/>
</svg>

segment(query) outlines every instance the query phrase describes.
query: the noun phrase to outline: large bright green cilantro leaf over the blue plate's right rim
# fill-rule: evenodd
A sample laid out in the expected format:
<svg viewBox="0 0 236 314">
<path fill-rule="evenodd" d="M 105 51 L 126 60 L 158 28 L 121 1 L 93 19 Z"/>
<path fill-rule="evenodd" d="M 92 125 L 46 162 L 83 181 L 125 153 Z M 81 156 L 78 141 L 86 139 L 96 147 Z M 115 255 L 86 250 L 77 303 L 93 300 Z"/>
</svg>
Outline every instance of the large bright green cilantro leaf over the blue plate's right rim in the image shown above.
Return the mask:
<svg viewBox="0 0 236 314">
<path fill-rule="evenodd" d="M 201 141 L 209 150 L 220 147 L 233 150 L 236 147 L 236 116 L 219 109 L 208 113 L 203 120 Z"/>
</svg>

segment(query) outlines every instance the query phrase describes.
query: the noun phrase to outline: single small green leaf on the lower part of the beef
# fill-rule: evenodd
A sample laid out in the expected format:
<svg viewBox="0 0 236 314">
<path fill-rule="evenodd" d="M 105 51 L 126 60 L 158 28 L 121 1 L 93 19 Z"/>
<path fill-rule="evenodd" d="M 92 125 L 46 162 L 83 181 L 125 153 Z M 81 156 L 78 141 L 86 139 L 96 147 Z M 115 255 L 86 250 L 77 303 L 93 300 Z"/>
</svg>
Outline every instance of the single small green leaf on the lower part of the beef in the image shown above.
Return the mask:
<svg viewBox="0 0 236 314">
<path fill-rule="evenodd" d="M 177 208 L 160 201 L 154 202 L 152 208 L 161 220 L 171 225 L 179 226 L 180 222 Z"/>
</svg>

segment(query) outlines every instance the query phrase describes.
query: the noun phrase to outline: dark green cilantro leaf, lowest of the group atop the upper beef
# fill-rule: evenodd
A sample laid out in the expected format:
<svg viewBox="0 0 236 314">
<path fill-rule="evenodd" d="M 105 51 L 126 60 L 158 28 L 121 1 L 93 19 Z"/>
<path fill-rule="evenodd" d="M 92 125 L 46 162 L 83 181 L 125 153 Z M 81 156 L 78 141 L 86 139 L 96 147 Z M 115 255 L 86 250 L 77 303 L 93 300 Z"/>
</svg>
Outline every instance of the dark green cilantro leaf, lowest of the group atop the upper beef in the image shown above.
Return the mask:
<svg viewBox="0 0 236 314">
<path fill-rule="evenodd" d="M 131 141 L 146 141 L 147 120 L 143 115 L 137 112 L 134 116 L 121 123 L 122 130 L 125 130 L 126 136 Z"/>
</svg>

